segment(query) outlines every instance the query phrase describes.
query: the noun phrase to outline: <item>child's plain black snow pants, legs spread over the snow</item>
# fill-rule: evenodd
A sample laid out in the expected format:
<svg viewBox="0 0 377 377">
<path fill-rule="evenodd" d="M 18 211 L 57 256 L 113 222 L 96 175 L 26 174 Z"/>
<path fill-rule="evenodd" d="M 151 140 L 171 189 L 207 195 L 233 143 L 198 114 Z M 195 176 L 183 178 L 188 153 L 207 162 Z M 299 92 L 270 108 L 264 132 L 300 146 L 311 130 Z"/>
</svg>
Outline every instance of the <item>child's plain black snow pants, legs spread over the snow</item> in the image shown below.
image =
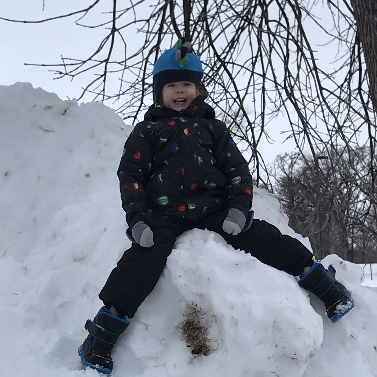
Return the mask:
<svg viewBox="0 0 377 377">
<path fill-rule="evenodd" d="M 110 273 L 99 297 L 106 306 L 113 305 L 122 315 L 132 318 L 153 290 L 172 252 L 176 238 L 184 231 L 199 228 L 219 233 L 235 249 L 250 253 L 259 261 L 294 276 L 313 264 L 313 254 L 297 239 L 284 235 L 274 225 L 254 219 L 251 227 L 233 236 L 222 230 L 223 212 L 198 220 L 182 220 L 151 213 L 148 225 L 154 245 L 138 244 L 126 250 Z M 236 278 L 236 277 L 235 277 Z"/>
</svg>

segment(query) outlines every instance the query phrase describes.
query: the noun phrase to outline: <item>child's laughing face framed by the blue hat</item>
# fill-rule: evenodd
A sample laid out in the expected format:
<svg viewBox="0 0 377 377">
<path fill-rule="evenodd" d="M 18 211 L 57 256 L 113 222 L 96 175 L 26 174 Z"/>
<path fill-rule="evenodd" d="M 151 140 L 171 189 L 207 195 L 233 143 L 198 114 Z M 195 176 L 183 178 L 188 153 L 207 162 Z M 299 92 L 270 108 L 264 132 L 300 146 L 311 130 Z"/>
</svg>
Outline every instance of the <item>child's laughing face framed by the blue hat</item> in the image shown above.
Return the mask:
<svg viewBox="0 0 377 377">
<path fill-rule="evenodd" d="M 181 111 L 198 96 L 196 85 L 191 81 L 175 81 L 162 88 L 162 101 L 166 107 Z"/>
</svg>

